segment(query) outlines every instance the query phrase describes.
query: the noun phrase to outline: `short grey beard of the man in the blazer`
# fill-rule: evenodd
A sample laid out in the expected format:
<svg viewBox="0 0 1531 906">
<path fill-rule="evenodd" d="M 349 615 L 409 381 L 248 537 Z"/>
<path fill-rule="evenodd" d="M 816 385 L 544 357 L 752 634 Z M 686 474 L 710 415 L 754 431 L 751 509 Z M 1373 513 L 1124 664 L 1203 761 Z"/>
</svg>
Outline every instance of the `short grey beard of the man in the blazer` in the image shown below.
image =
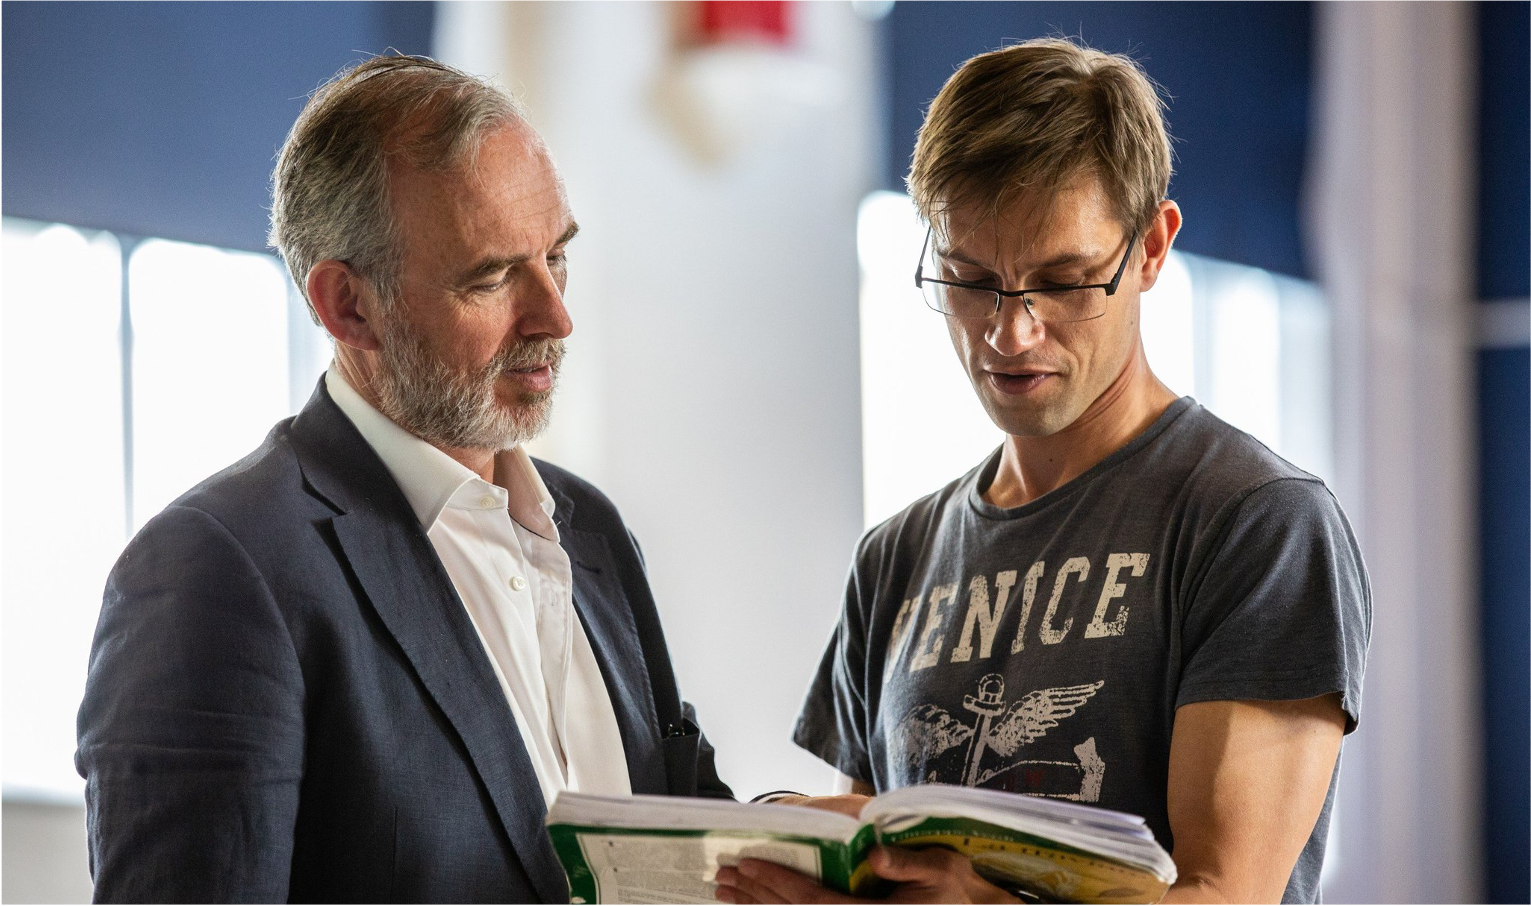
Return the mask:
<svg viewBox="0 0 1531 906">
<path fill-rule="evenodd" d="M 548 427 L 553 390 L 563 360 L 562 340 L 530 340 L 495 355 L 482 369 L 464 373 L 427 349 L 398 314 L 381 318 L 378 409 L 400 427 L 433 447 L 453 450 L 510 450 Z M 495 383 L 508 370 L 550 361 L 554 387 L 524 393 L 504 409 Z"/>
</svg>

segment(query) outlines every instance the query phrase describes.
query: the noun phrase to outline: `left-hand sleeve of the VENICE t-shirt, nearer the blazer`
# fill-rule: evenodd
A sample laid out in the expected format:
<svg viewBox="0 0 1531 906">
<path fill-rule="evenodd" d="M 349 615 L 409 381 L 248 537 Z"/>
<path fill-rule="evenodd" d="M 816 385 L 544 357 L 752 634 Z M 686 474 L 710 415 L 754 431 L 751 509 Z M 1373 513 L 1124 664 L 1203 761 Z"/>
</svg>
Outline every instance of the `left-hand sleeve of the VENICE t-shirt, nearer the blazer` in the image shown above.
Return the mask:
<svg viewBox="0 0 1531 906">
<path fill-rule="evenodd" d="M 865 546 L 865 545 L 863 545 Z M 859 551 L 845 583 L 845 609 L 808 686 L 792 741 L 853 781 L 873 784 L 867 713 L 867 612 Z"/>
</svg>

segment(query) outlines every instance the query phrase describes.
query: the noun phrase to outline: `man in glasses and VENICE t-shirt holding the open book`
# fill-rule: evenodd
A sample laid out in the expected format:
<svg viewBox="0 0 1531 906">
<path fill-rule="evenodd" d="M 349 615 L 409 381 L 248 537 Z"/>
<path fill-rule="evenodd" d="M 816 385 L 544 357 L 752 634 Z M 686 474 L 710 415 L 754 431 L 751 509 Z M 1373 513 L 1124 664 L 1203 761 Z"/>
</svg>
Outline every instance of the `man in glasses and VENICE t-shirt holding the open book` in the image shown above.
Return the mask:
<svg viewBox="0 0 1531 906">
<path fill-rule="evenodd" d="M 1004 441 L 862 540 L 796 739 L 856 793 L 1141 814 L 1179 866 L 1165 903 L 1311 903 L 1372 601 L 1323 482 L 1148 367 L 1168 184 L 1130 58 L 1027 41 L 937 95 L 916 282 Z M 905 901 L 1015 901 L 952 852 L 877 859 Z M 720 880 L 738 903 L 847 901 L 758 862 Z"/>
</svg>

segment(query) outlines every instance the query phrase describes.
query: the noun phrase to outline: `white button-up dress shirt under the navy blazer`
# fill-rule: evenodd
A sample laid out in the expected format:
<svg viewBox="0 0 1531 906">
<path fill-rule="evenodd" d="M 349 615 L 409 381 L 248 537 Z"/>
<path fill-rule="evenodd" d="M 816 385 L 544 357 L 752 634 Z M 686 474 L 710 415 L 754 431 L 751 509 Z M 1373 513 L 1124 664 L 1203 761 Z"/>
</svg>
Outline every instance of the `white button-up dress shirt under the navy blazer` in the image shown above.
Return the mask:
<svg viewBox="0 0 1531 906">
<path fill-rule="evenodd" d="M 447 568 L 551 803 L 559 790 L 632 793 L 617 715 L 574 614 L 553 496 L 516 447 L 495 484 L 393 424 L 331 366 L 325 387 L 387 467 Z"/>
</svg>

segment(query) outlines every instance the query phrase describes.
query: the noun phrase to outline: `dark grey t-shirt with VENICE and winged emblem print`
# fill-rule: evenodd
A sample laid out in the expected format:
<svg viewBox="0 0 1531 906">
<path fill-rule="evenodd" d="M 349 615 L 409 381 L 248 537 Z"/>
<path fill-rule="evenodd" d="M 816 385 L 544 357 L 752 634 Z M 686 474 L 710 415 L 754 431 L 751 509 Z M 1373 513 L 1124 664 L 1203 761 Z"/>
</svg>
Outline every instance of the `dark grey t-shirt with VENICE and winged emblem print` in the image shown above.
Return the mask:
<svg viewBox="0 0 1531 906">
<path fill-rule="evenodd" d="M 1321 481 L 1190 398 L 1024 507 L 981 499 L 998 461 L 862 539 L 798 745 L 879 791 L 1141 814 L 1171 848 L 1177 707 L 1338 692 L 1355 727 L 1372 600 Z M 1286 903 L 1318 901 L 1332 803 Z"/>
</svg>

